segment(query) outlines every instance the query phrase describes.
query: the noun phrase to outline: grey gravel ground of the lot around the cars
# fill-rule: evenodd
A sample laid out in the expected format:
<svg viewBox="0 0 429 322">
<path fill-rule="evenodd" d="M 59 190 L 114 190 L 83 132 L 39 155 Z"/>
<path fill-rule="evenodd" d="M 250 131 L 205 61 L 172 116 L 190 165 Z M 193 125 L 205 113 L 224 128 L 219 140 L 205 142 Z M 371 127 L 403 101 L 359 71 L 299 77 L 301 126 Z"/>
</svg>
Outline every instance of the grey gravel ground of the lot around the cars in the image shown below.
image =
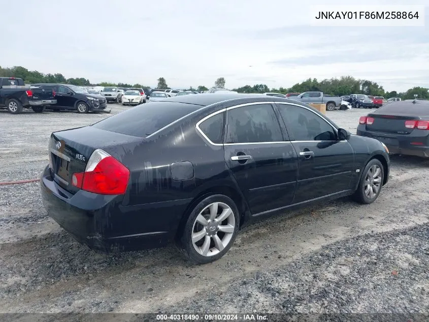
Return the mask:
<svg viewBox="0 0 429 322">
<path fill-rule="evenodd" d="M 327 115 L 354 132 L 367 112 Z M 0 111 L 0 182 L 39 177 L 52 131 L 109 115 Z M 0 186 L 0 312 L 429 314 L 428 167 L 392 156 L 373 204 L 343 198 L 254 224 L 204 266 L 173 246 L 95 253 L 47 216 L 38 183 Z"/>
</svg>

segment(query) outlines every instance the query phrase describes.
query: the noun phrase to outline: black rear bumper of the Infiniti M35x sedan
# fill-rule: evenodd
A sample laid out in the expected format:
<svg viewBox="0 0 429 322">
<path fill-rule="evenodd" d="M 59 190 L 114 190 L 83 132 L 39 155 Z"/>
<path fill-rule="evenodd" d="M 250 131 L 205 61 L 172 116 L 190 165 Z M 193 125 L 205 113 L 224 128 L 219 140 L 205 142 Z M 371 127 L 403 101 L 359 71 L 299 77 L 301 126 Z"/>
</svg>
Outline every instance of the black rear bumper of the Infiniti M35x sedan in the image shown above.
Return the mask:
<svg viewBox="0 0 429 322">
<path fill-rule="evenodd" d="M 83 190 L 72 195 L 53 181 L 48 166 L 41 175 L 40 186 L 49 216 L 91 249 L 121 252 L 158 248 L 174 239 L 179 219 L 172 207 L 177 204 L 123 207 L 123 196 Z M 183 204 L 183 210 L 185 207 Z"/>
</svg>

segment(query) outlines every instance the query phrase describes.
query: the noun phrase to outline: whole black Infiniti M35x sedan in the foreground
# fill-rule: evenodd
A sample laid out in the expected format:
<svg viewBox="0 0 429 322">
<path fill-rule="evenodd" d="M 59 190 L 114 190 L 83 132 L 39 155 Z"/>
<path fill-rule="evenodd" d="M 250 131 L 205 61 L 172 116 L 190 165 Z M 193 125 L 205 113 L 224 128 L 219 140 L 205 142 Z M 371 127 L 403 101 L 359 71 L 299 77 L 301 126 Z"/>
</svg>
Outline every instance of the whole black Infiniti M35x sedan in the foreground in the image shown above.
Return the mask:
<svg viewBox="0 0 429 322">
<path fill-rule="evenodd" d="M 52 133 L 41 177 L 49 215 L 104 252 L 175 241 L 223 256 L 244 224 L 346 195 L 371 203 L 388 150 L 298 101 L 200 94 L 136 106 Z"/>
</svg>

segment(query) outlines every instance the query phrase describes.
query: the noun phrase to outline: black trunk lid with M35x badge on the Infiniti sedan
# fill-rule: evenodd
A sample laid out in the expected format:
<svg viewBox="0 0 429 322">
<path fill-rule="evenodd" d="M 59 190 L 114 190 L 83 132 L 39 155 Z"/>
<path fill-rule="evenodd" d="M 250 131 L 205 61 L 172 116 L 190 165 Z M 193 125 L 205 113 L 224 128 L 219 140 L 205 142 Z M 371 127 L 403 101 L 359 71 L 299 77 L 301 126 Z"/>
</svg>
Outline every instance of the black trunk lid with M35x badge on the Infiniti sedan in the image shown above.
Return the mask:
<svg viewBox="0 0 429 322">
<path fill-rule="evenodd" d="M 53 180 L 63 189 L 76 193 L 72 175 L 84 172 L 94 150 L 142 140 L 135 136 L 114 133 L 91 126 L 54 132 L 49 140 L 49 167 Z"/>
</svg>

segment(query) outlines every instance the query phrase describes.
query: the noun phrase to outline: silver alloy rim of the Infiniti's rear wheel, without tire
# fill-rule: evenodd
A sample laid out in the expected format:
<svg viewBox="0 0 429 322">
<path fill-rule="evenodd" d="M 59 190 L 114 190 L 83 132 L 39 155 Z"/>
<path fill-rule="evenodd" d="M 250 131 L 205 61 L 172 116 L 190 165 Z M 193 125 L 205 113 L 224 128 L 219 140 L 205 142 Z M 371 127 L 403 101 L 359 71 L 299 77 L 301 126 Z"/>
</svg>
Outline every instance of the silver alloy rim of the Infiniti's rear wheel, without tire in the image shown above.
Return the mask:
<svg viewBox="0 0 429 322">
<path fill-rule="evenodd" d="M 236 219 L 223 202 L 213 202 L 196 217 L 192 227 L 192 245 L 202 256 L 219 254 L 233 239 Z"/>
</svg>

